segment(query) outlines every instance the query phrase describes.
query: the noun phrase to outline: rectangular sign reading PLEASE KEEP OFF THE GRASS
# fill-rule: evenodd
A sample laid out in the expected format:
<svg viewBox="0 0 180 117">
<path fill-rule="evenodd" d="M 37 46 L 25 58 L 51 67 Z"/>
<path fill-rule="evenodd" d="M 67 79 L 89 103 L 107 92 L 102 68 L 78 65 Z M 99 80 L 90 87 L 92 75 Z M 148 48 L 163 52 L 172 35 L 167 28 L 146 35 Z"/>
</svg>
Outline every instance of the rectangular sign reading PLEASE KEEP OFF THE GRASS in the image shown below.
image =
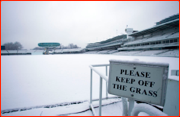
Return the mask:
<svg viewBox="0 0 180 117">
<path fill-rule="evenodd" d="M 164 105 L 169 64 L 110 60 L 108 92 Z"/>
</svg>

